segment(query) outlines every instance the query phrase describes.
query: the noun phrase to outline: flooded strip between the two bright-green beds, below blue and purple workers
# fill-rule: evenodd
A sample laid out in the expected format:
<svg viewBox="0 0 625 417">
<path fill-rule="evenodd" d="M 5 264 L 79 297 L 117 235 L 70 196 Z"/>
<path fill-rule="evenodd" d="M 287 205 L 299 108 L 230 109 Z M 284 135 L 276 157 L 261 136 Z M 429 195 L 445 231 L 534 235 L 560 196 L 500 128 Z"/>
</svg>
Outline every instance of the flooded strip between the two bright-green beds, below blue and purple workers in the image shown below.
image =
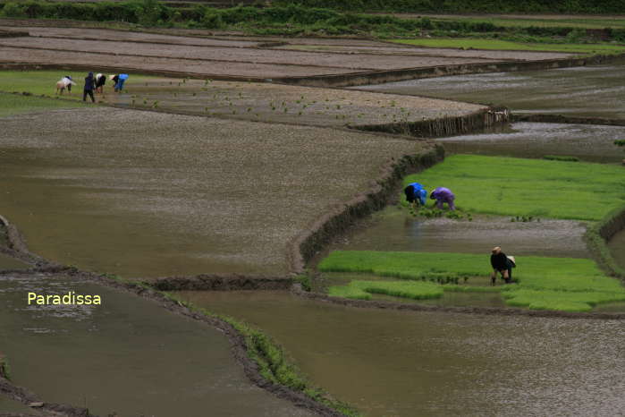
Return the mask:
<svg viewBox="0 0 625 417">
<path fill-rule="evenodd" d="M 582 239 L 586 228 L 581 223 L 549 219 L 521 223 L 510 218 L 422 220 L 401 206 L 388 206 L 331 250 L 484 253 L 485 266 L 493 246 L 502 246 L 506 253 L 516 256 L 588 257 Z"/>
</svg>

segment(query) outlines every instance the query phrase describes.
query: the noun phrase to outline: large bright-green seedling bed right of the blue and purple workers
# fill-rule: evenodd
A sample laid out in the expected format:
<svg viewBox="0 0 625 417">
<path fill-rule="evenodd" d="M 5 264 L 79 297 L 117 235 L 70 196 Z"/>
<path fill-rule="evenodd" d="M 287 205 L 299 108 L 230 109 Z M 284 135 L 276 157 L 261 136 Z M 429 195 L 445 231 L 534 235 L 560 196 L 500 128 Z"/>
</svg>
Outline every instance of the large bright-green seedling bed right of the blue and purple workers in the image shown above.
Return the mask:
<svg viewBox="0 0 625 417">
<path fill-rule="evenodd" d="M 600 220 L 625 203 L 621 166 L 454 155 L 404 179 L 447 187 L 459 209 L 502 216 Z"/>
</svg>

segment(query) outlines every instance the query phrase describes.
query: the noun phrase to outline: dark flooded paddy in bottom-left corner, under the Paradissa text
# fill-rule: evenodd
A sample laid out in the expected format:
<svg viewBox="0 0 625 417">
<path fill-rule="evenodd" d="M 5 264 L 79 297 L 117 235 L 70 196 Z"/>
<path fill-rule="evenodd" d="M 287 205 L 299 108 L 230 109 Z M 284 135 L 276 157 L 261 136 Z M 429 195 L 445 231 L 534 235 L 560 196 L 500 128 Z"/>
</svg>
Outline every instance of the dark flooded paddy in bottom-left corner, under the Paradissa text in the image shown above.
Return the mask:
<svg viewBox="0 0 625 417">
<path fill-rule="evenodd" d="M 27 293 L 99 294 L 87 306 Z M 13 382 L 100 416 L 307 415 L 252 386 L 223 334 L 154 302 L 65 277 L 0 277 L 0 340 Z M 2 404 L 0 402 L 0 404 Z"/>
</svg>

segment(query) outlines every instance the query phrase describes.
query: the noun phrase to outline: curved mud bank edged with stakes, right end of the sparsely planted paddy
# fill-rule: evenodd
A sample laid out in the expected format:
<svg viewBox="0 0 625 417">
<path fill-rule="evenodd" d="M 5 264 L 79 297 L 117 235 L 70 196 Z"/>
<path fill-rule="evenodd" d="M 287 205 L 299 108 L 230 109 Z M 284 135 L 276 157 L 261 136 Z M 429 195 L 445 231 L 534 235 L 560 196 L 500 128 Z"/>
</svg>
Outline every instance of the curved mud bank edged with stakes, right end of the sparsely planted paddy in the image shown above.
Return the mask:
<svg viewBox="0 0 625 417">
<path fill-rule="evenodd" d="M 505 107 L 497 107 L 457 117 L 443 117 L 421 122 L 367 124 L 354 126 L 353 129 L 403 134 L 418 138 L 440 138 L 476 132 L 507 123 L 509 120 L 510 111 Z"/>
</svg>

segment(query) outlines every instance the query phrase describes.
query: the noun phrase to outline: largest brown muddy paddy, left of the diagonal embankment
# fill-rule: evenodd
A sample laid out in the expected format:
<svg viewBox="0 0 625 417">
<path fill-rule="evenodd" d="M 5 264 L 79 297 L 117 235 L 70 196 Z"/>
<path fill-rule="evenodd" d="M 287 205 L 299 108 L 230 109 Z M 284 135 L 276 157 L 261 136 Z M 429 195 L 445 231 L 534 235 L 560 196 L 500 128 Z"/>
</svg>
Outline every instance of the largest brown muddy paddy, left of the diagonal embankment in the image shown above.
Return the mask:
<svg viewBox="0 0 625 417">
<path fill-rule="evenodd" d="M 31 250 L 128 277 L 283 275 L 287 243 L 319 213 L 368 190 L 393 157 L 432 146 L 110 108 L 3 126 L 0 212 Z"/>
</svg>

